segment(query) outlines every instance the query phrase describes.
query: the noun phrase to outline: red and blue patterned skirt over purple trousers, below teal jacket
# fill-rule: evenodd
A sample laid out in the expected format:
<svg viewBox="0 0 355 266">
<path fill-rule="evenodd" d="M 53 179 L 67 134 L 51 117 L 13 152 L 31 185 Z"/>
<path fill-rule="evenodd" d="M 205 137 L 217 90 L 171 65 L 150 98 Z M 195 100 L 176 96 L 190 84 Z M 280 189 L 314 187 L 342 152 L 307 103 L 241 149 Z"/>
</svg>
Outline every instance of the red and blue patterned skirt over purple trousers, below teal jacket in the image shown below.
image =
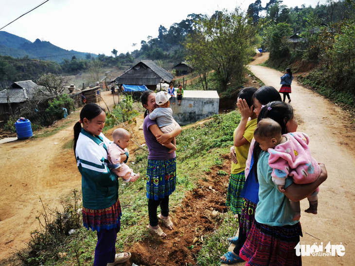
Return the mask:
<svg viewBox="0 0 355 266">
<path fill-rule="evenodd" d="M 103 210 L 91 210 L 83 207 L 84 227 L 91 228 L 92 231 L 101 229 L 111 229 L 120 226 L 119 221 L 122 216 L 120 200 L 111 207 Z"/>
</svg>

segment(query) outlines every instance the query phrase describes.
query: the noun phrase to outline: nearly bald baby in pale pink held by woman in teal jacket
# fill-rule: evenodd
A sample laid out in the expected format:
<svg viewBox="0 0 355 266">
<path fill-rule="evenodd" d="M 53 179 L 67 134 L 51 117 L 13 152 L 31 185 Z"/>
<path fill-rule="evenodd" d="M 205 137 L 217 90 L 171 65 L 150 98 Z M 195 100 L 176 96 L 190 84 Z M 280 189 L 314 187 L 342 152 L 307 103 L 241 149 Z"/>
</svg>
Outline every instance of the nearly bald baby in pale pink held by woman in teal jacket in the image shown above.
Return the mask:
<svg viewBox="0 0 355 266">
<path fill-rule="evenodd" d="M 124 182 L 135 182 L 140 174 L 133 173 L 125 163 L 128 160 L 129 152 L 127 150 L 129 140 L 131 138 L 128 131 L 123 128 L 115 129 L 112 133 L 113 142 L 108 145 L 108 162 L 114 166 L 112 171 L 119 177 L 123 178 Z M 127 158 L 122 161 L 121 155 L 125 154 Z"/>
</svg>

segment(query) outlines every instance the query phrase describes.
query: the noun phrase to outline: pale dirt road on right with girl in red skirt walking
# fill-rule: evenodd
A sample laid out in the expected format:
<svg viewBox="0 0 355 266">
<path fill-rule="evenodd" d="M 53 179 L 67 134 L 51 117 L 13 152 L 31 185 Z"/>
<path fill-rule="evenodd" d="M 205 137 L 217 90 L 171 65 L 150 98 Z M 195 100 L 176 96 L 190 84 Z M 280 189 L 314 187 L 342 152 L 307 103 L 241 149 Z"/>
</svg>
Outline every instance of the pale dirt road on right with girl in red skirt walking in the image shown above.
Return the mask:
<svg viewBox="0 0 355 266">
<path fill-rule="evenodd" d="M 249 69 L 266 85 L 280 88 L 283 73 L 264 66 Z M 320 186 L 318 215 L 302 213 L 301 244 L 322 242 L 325 247 L 330 241 L 345 247 L 342 257 L 303 257 L 303 265 L 355 265 L 355 134 L 348 127 L 350 121 L 346 112 L 297 82 L 292 83 L 290 96 L 298 131 L 309 135 L 312 155 L 328 170 L 328 179 Z M 307 204 L 302 200 L 301 209 Z"/>
</svg>

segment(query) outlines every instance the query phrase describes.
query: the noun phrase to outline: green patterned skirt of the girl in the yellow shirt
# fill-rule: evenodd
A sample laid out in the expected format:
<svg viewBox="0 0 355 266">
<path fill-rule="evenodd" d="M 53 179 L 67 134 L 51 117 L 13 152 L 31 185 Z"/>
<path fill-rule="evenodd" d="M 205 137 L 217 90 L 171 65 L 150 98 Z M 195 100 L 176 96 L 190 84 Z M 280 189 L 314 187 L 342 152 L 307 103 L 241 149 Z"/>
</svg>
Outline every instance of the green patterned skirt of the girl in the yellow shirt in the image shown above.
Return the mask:
<svg viewBox="0 0 355 266">
<path fill-rule="evenodd" d="M 245 172 L 238 174 L 231 174 L 229 179 L 226 205 L 231 207 L 233 214 L 240 214 L 242 211 L 242 198 L 240 193 L 242 192 L 245 183 Z"/>
</svg>

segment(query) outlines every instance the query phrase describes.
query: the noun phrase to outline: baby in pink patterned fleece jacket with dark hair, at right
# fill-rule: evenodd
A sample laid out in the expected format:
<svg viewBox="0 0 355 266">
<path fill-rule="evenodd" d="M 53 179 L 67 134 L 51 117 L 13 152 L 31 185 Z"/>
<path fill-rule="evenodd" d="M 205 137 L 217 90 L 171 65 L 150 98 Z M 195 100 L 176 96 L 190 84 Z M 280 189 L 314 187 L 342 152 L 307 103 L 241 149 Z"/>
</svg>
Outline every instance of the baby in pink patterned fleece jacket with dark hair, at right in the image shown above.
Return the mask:
<svg viewBox="0 0 355 266">
<path fill-rule="evenodd" d="M 254 138 L 262 150 L 268 151 L 269 166 L 272 170 L 272 181 L 280 192 L 284 192 L 284 184 L 287 176 L 293 178 L 296 184 L 307 184 L 316 181 L 320 175 L 320 166 L 312 157 L 308 147 L 309 137 L 305 133 L 294 132 L 281 134 L 281 126 L 270 118 L 259 121 Z M 316 189 L 309 197 L 309 208 L 306 213 L 317 214 L 318 192 Z M 301 217 L 300 202 L 290 201 L 295 212 L 293 220 Z"/>
</svg>

